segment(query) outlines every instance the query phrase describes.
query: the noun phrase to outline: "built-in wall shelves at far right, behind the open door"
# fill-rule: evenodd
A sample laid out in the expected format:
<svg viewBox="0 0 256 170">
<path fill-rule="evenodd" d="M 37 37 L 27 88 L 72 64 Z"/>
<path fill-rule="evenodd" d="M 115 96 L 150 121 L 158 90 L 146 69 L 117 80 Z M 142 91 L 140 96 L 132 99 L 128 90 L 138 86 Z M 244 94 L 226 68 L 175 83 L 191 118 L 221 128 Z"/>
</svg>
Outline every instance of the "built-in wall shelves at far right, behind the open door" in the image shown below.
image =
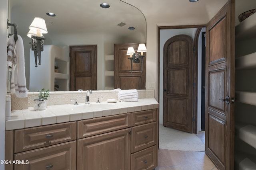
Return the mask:
<svg viewBox="0 0 256 170">
<path fill-rule="evenodd" d="M 256 14 L 236 26 L 235 169 L 256 169 Z"/>
</svg>

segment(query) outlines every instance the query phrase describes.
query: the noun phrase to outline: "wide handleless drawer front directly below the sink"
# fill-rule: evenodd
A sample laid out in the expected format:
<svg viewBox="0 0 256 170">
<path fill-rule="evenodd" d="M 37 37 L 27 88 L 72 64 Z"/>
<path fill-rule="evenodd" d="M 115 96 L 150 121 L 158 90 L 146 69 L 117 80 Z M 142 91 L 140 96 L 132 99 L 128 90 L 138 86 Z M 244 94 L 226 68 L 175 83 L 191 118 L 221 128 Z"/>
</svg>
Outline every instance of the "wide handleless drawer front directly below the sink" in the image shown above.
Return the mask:
<svg viewBox="0 0 256 170">
<path fill-rule="evenodd" d="M 131 127 L 131 114 L 98 117 L 78 121 L 78 138 L 90 137 Z"/>
</svg>

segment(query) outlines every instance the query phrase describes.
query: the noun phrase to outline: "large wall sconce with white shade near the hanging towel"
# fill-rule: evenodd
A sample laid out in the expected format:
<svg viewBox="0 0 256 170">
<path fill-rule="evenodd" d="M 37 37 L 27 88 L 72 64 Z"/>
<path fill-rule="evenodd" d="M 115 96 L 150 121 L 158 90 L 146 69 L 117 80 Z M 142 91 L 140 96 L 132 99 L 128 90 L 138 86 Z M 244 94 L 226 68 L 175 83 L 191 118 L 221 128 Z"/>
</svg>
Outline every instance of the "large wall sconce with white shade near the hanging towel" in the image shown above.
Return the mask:
<svg viewBox="0 0 256 170">
<path fill-rule="evenodd" d="M 35 17 L 29 26 L 30 31 L 27 33 L 28 37 L 31 37 L 31 47 L 35 55 L 35 63 L 37 67 L 37 57 L 38 65 L 41 65 L 41 51 L 44 50 L 44 38 L 43 33 L 48 33 L 46 24 L 43 18 Z"/>
</svg>

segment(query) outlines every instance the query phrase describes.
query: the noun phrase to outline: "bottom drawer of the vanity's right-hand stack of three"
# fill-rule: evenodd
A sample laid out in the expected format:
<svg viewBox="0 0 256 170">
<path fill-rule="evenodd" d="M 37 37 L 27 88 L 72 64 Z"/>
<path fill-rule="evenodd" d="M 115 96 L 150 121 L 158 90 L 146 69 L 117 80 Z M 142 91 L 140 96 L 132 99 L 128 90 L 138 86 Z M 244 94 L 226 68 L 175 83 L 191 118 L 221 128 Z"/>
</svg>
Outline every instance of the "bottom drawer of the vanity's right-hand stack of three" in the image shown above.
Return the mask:
<svg viewBox="0 0 256 170">
<path fill-rule="evenodd" d="M 132 170 L 152 170 L 156 168 L 156 145 L 132 154 Z"/>
</svg>

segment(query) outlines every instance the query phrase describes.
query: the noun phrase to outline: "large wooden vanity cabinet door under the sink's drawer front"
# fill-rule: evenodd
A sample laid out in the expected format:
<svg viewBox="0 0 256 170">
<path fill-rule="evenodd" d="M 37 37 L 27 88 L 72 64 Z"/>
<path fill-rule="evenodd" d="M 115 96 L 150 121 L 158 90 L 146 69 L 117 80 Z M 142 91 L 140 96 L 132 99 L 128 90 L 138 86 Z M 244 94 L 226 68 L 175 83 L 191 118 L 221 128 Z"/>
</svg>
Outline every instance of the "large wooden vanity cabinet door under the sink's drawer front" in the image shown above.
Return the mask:
<svg viewBox="0 0 256 170">
<path fill-rule="evenodd" d="M 130 170 L 130 128 L 78 140 L 78 170 Z"/>
</svg>

